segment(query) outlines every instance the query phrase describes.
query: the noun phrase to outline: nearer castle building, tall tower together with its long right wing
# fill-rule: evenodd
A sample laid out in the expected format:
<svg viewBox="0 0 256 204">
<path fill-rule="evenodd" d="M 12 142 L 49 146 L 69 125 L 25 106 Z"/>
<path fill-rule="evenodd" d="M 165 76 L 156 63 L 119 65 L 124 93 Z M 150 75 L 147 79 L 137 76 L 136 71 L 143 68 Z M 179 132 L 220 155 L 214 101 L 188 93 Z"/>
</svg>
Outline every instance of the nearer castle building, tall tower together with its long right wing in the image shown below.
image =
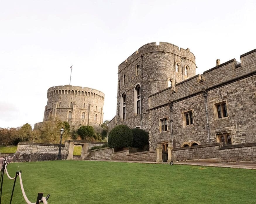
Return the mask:
<svg viewBox="0 0 256 204">
<path fill-rule="evenodd" d="M 196 75 L 189 49 L 143 45 L 118 66 L 117 111 L 109 131 L 119 124 L 145 129 L 150 150 L 162 151 L 255 143 L 256 49 L 240 61 L 217 59 L 215 67 Z"/>
</svg>

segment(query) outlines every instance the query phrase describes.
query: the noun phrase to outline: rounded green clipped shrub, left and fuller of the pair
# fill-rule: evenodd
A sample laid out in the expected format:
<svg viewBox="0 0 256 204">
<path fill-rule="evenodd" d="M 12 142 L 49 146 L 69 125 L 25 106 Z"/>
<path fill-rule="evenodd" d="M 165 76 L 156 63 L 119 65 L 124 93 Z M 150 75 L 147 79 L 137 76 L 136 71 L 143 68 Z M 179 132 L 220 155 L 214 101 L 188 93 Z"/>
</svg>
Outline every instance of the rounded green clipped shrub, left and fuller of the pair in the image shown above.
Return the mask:
<svg viewBox="0 0 256 204">
<path fill-rule="evenodd" d="M 126 125 L 117 125 L 110 132 L 108 144 L 111 148 L 131 147 L 133 144 L 133 133 Z"/>
</svg>

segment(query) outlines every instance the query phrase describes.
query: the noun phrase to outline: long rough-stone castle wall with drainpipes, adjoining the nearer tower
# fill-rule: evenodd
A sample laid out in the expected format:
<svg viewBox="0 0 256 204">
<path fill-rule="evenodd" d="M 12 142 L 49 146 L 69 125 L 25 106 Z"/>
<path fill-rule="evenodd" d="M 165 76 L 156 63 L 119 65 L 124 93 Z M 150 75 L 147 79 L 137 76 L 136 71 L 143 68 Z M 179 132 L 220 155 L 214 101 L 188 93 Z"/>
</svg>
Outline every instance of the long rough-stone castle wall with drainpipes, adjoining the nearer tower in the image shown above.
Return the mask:
<svg viewBox="0 0 256 204">
<path fill-rule="evenodd" d="M 235 59 L 205 71 L 175 86 L 149 97 L 150 150 L 157 143 L 172 141 L 171 109 L 173 117 L 173 146 L 196 142 L 207 144 L 207 118 L 204 92 L 207 93 L 210 143 L 218 135 L 230 134 L 233 145 L 256 141 L 256 50 L 241 55 L 241 64 Z M 204 92 L 202 91 L 204 88 Z M 166 97 L 168 96 L 168 97 Z M 169 102 L 170 100 L 170 102 Z M 216 103 L 224 101 L 228 117 L 218 118 Z M 193 124 L 185 125 L 184 112 L 193 112 Z M 168 130 L 160 131 L 159 119 L 166 118 Z"/>
</svg>

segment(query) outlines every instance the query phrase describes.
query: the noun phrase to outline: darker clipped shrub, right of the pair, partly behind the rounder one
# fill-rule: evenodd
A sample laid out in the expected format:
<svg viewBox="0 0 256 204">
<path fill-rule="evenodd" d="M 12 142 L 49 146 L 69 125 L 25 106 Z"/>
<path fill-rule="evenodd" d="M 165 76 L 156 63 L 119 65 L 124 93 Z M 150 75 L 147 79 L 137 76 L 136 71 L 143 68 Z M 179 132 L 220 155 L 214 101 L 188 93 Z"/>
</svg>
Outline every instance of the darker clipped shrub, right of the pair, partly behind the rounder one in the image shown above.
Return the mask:
<svg viewBox="0 0 256 204">
<path fill-rule="evenodd" d="M 148 144 L 148 132 L 142 129 L 131 129 L 133 133 L 133 145 L 132 147 L 143 148 Z"/>
</svg>

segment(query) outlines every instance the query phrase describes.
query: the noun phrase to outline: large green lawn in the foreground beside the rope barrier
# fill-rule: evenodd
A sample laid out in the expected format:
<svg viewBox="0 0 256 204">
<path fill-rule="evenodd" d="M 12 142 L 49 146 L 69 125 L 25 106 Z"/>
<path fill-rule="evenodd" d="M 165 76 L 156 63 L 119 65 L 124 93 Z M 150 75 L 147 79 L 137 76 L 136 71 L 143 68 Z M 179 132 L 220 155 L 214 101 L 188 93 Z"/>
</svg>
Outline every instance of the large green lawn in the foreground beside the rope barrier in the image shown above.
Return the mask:
<svg viewBox="0 0 256 204">
<path fill-rule="evenodd" d="M 25 192 L 48 203 L 255 203 L 256 171 L 167 164 L 104 161 L 11 163 L 11 177 L 22 170 Z M 13 202 L 25 203 L 19 180 Z M 3 203 L 13 180 L 4 175 Z"/>
</svg>

